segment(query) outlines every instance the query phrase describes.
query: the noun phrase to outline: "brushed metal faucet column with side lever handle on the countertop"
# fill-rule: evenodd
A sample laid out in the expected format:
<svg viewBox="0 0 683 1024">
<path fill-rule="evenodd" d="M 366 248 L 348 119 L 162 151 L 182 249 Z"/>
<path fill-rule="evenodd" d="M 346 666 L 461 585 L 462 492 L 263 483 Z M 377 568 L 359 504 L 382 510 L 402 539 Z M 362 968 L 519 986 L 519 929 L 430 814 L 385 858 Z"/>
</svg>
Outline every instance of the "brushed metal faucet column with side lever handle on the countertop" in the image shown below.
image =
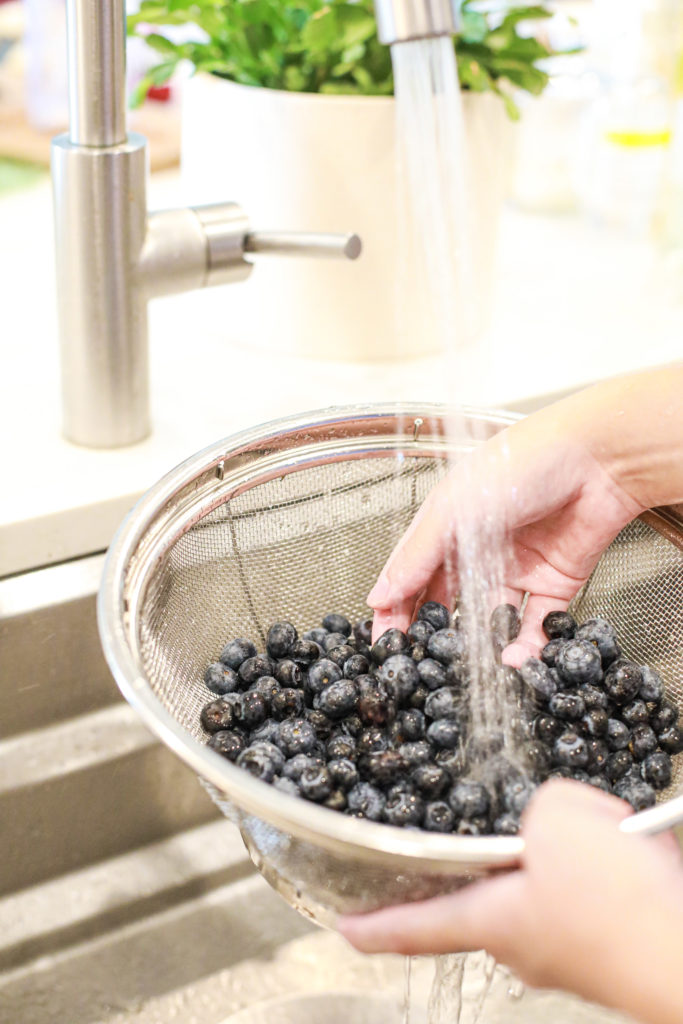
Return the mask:
<svg viewBox="0 0 683 1024">
<path fill-rule="evenodd" d="M 52 142 L 62 430 L 90 447 L 151 429 L 147 301 L 244 281 L 252 253 L 355 259 L 355 234 L 252 231 L 237 203 L 147 213 L 126 131 L 124 0 L 67 0 L 69 132 Z"/>
</svg>

